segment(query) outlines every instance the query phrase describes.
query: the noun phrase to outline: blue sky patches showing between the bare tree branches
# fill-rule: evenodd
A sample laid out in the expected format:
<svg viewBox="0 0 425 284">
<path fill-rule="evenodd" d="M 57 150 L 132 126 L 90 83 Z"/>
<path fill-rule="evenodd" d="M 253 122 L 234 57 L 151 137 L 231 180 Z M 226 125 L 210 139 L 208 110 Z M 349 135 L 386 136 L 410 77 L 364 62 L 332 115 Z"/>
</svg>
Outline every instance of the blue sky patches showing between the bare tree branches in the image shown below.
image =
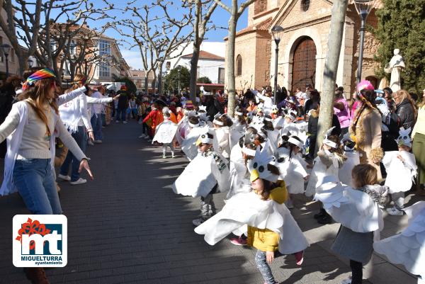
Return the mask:
<svg viewBox="0 0 425 284">
<path fill-rule="evenodd" d="M 68 1 L 68 0 L 59 0 L 59 2 L 64 2 L 64 1 Z M 113 3 L 115 8 L 121 8 L 121 9 L 125 8 L 125 6 L 127 6 L 127 3 L 128 3 L 128 0 L 125 0 L 125 1 L 108 0 L 108 1 Z M 152 1 L 155 1 L 155 0 L 136 0 L 135 4 L 132 4 L 131 6 L 142 7 L 146 4 L 152 3 Z M 162 0 L 162 1 L 166 2 L 166 0 Z M 244 1 L 244 0 L 239 0 L 239 4 L 241 4 L 242 1 Z M 101 1 L 101 0 L 91 0 L 91 2 L 94 3 L 94 8 L 101 8 L 103 6 L 103 1 Z M 223 2 L 227 5 L 229 5 L 231 3 L 231 0 L 223 0 Z M 178 7 L 178 6 L 180 6 L 180 4 L 181 4 L 180 0 L 174 1 L 174 7 Z M 167 5 L 167 6 L 172 7 L 171 5 Z M 33 8 L 33 7 L 28 6 L 27 8 L 31 11 L 31 8 Z M 149 12 L 152 13 L 152 17 L 162 16 L 161 13 L 159 13 L 159 11 L 152 11 L 151 10 Z M 248 12 L 248 8 L 246 8 L 244 14 L 239 18 L 237 30 L 240 30 L 240 29 L 246 27 L 247 12 Z M 56 16 L 57 16 L 57 12 L 52 12 L 52 16 L 50 18 L 54 18 L 55 13 L 56 13 Z M 171 16 L 174 16 L 175 18 L 181 18 L 184 11 L 182 11 L 181 9 L 178 9 L 178 8 L 170 8 L 169 13 L 171 14 Z M 131 17 L 130 12 L 124 13 L 123 11 L 119 11 L 119 10 L 108 11 L 108 14 L 110 14 L 111 16 L 114 16 L 117 21 L 120 20 L 120 18 Z M 19 17 L 18 14 L 16 16 Z M 42 18 L 43 18 L 43 16 L 42 16 Z M 61 18 L 60 20 L 66 21 L 65 18 Z M 106 20 L 106 19 L 103 19 L 101 21 L 89 20 L 87 22 L 87 24 L 89 25 L 90 28 L 102 28 L 103 25 L 106 25 L 107 21 L 112 21 L 112 20 Z M 227 21 L 229 21 L 229 13 L 227 11 L 225 11 L 223 8 L 221 8 L 220 6 L 217 6 L 214 13 L 212 14 L 211 21 L 212 21 L 212 24 L 214 24 L 216 26 L 224 27 L 225 29 L 220 28 L 220 29 L 208 31 L 208 33 L 205 35 L 205 41 L 220 41 L 220 42 L 223 41 L 223 38 L 225 38 L 227 36 Z M 108 35 L 111 38 L 117 39 L 118 42 L 120 42 L 120 40 L 125 38 L 125 37 L 121 36 L 118 32 L 116 32 L 115 30 L 112 30 L 112 29 L 106 30 L 105 35 Z M 142 69 L 142 62 L 141 62 L 140 53 L 139 53 L 138 50 L 136 50 L 136 49 L 130 50 L 129 45 L 126 45 L 125 43 L 123 43 L 120 46 L 120 50 L 121 50 L 121 53 L 123 54 L 123 57 L 125 58 L 125 60 L 128 62 L 128 64 L 131 67 L 133 67 L 135 69 Z"/>
</svg>

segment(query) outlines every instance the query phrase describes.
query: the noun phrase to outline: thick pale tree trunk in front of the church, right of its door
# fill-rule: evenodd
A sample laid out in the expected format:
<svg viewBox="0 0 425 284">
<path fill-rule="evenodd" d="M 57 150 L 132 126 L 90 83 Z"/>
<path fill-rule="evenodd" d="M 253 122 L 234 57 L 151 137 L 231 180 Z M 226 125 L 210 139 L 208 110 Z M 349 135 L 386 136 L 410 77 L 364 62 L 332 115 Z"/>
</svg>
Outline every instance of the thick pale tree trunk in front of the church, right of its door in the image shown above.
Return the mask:
<svg viewBox="0 0 425 284">
<path fill-rule="evenodd" d="M 338 71 L 339 54 L 341 53 L 347 4 L 348 0 L 335 0 L 332 7 L 331 30 L 328 40 L 329 50 L 324 63 L 323 92 L 320 100 L 316 149 L 320 149 L 324 134 L 332 126 L 336 72 Z"/>
</svg>

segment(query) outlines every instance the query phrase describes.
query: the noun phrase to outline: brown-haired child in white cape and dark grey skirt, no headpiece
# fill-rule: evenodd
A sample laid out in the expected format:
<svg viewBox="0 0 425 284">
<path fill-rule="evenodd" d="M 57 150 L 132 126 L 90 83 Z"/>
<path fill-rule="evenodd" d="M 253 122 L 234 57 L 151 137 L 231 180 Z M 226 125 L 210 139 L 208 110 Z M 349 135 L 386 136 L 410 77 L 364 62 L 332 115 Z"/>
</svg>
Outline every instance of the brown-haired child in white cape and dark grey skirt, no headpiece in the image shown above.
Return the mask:
<svg viewBox="0 0 425 284">
<path fill-rule="evenodd" d="M 355 166 L 352 178 L 353 188 L 342 186 L 336 176 L 323 176 L 314 199 L 341 223 L 331 250 L 350 260 L 352 276 L 342 283 L 361 284 L 363 264 L 370 260 L 373 242 L 384 227 L 380 206 L 388 203 L 389 195 L 387 186 L 376 184 L 377 170 L 370 164 Z"/>
</svg>

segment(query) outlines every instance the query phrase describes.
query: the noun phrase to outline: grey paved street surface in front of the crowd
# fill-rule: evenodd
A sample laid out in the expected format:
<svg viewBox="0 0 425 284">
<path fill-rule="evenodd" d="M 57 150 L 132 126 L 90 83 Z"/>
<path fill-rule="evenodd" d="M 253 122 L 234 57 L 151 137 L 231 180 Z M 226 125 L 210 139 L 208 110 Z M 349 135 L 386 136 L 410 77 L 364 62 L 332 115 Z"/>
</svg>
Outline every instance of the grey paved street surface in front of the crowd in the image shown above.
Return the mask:
<svg viewBox="0 0 425 284">
<path fill-rule="evenodd" d="M 61 182 L 60 199 L 68 218 L 69 260 L 65 268 L 47 270 L 52 284 L 113 283 L 263 283 L 254 250 L 228 239 L 209 246 L 193 232 L 199 201 L 171 191 L 187 161 L 162 159 L 161 149 L 138 139 L 141 127 L 112 123 L 103 144 L 88 148 L 95 181 L 80 186 Z M 2 169 L 1 165 L 1 171 Z M 188 181 L 190 182 L 190 181 Z M 223 195 L 215 196 L 221 208 Z M 305 205 L 307 203 L 307 205 Z M 311 242 L 301 267 L 293 256 L 272 265 L 281 284 L 340 283 L 349 276 L 348 262 L 331 254 L 338 224 L 319 226 L 312 218 L 316 203 L 295 199 L 293 215 Z M 17 194 L 0 197 L 0 283 L 28 283 L 12 265 L 12 217 L 27 213 Z M 406 217 L 386 217 L 383 236 L 399 232 Z M 374 256 L 365 268 L 365 283 L 413 284 L 402 268 Z"/>
</svg>

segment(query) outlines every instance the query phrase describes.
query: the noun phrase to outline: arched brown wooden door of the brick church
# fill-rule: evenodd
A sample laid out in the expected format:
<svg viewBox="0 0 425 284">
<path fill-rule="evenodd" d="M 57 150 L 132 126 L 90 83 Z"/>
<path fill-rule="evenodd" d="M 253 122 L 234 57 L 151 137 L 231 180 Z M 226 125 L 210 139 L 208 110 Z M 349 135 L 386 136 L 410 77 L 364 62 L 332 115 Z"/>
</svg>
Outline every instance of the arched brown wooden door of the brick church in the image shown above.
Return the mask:
<svg viewBox="0 0 425 284">
<path fill-rule="evenodd" d="M 316 45 L 312 38 L 303 37 L 295 42 L 293 52 L 292 90 L 305 90 L 307 84 L 314 87 L 316 79 Z"/>
</svg>

